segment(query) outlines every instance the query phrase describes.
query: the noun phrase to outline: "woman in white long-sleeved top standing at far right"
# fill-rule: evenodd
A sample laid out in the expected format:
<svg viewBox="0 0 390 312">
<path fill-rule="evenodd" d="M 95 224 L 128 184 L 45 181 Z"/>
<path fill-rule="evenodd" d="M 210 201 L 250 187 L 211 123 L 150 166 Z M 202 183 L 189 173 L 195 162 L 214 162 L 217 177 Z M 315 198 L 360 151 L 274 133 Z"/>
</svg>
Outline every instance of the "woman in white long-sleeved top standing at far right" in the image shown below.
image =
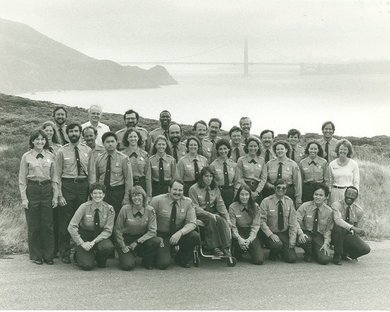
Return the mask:
<svg viewBox="0 0 390 312">
<path fill-rule="evenodd" d="M 353 185 L 359 189 L 360 183 L 358 164 L 350 158 L 353 154 L 351 142 L 346 139 L 341 139 L 335 147 L 335 152 L 339 158 L 329 164 L 329 206 L 337 200 L 344 199 L 347 186 Z"/>
</svg>

